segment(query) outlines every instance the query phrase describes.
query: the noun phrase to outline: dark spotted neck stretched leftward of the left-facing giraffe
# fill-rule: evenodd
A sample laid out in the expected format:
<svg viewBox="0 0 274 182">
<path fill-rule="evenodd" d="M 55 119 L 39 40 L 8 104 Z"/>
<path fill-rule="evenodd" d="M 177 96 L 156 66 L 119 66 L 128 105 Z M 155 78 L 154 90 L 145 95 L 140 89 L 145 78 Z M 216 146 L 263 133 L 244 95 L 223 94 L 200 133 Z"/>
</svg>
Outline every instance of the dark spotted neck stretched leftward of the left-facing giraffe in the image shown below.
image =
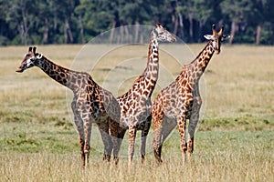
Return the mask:
<svg viewBox="0 0 274 182">
<path fill-rule="evenodd" d="M 67 86 L 72 91 L 77 88 L 76 82 L 80 72 L 72 71 L 65 67 L 58 66 L 48 60 L 45 56 L 42 56 L 42 58 L 37 61 L 36 66 L 40 67 L 47 74 L 47 76 L 51 77 L 59 84 Z"/>
</svg>

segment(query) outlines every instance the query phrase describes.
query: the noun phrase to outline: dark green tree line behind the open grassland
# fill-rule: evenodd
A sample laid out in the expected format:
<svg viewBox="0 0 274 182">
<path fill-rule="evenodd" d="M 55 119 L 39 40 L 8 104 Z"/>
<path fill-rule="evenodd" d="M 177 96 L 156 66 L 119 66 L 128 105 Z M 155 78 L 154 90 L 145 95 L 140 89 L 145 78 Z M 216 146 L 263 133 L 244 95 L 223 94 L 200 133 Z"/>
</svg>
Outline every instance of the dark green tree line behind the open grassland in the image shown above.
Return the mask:
<svg viewBox="0 0 274 182">
<path fill-rule="evenodd" d="M 216 24 L 225 25 L 229 44 L 273 45 L 273 7 L 273 0 L 0 0 L 0 45 L 84 44 L 115 27 L 158 22 L 187 43 L 204 41 Z"/>
</svg>

